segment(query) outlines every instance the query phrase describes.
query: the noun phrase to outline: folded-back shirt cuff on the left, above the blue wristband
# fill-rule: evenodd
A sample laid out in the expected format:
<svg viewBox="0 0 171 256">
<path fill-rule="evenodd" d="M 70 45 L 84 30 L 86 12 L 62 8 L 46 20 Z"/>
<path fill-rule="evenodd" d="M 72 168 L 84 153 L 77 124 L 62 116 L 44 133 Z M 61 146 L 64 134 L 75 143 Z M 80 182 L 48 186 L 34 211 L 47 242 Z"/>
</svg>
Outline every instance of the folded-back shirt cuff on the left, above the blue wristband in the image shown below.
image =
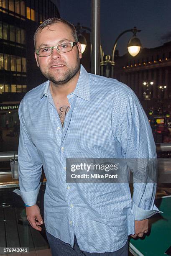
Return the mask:
<svg viewBox="0 0 171 256">
<path fill-rule="evenodd" d="M 38 193 L 41 187 L 41 183 L 38 185 L 38 188 L 33 191 L 21 191 L 20 189 L 13 190 L 14 193 L 20 195 L 26 205 L 36 205 Z"/>
</svg>

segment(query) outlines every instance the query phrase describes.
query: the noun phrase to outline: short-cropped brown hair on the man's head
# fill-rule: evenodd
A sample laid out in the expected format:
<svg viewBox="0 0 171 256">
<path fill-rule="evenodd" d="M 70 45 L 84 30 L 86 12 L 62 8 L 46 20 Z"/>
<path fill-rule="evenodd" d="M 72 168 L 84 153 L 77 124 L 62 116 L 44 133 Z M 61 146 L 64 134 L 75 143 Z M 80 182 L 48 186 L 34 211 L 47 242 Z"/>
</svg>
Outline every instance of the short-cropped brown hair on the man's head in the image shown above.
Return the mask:
<svg viewBox="0 0 171 256">
<path fill-rule="evenodd" d="M 38 26 L 38 28 L 36 29 L 36 32 L 34 33 L 33 40 L 34 40 L 35 49 L 36 49 L 36 35 L 37 35 L 37 33 L 39 31 L 41 31 L 43 28 L 45 28 L 47 26 L 50 26 L 50 25 L 53 25 L 53 24 L 58 23 L 58 22 L 64 23 L 67 26 L 69 26 L 69 28 L 71 28 L 72 36 L 74 37 L 74 40 L 76 42 L 78 42 L 77 31 L 76 31 L 76 28 L 74 27 L 74 24 L 71 24 L 69 21 L 61 19 L 61 18 L 49 18 L 47 20 L 44 20 L 43 23 L 41 23 L 41 25 Z"/>
</svg>

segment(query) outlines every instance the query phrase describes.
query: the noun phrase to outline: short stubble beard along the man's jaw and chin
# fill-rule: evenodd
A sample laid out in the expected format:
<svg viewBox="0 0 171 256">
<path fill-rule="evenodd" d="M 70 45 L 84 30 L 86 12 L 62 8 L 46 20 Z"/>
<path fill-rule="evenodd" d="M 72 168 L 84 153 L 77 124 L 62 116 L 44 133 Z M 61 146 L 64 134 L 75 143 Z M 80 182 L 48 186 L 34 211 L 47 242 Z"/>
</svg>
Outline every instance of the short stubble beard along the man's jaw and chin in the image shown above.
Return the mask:
<svg viewBox="0 0 171 256">
<path fill-rule="evenodd" d="M 48 71 L 48 69 L 46 71 L 42 72 L 42 74 L 50 82 L 53 82 L 56 87 L 58 87 L 59 85 L 67 84 L 67 82 L 69 82 L 72 78 L 74 78 L 76 76 L 76 74 L 79 72 L 79 70 L 80 70 L 80 59 L 79 59 L 79 57 L 77 57 L 77 65 L 75 67 L 71 67 L 71 66 L 68 67 L 68 70 L 63 74 L 63 76 L 60 79 L 56 78 L 55 75 L 51 74 Z"/>
</svg>

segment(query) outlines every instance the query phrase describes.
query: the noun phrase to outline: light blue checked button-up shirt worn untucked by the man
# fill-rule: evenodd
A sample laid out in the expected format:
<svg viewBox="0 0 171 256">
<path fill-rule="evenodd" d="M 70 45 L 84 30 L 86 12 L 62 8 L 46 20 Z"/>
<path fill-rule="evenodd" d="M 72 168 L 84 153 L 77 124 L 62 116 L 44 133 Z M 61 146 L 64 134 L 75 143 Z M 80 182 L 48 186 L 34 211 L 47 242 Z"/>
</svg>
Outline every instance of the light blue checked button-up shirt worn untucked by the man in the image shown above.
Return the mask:
<svg viewBox="0 0 171 256">
<path fill-rule="evenodd" d="M 88 74 L 81 66 L 68 96 L 64 127 L 49 81 L 20 103 L 18 148 L 20 195 L 35 205 L 42 165 L 46 175 L 44 223 L 48 233 L 87 252 L 112 252 L 134 234 L 135 220 L 159 212 L 155 184 L 66 184 L 66 158 L 156 158 L 148 119 L 134 92 L 115 79 Z"/>
</svg>

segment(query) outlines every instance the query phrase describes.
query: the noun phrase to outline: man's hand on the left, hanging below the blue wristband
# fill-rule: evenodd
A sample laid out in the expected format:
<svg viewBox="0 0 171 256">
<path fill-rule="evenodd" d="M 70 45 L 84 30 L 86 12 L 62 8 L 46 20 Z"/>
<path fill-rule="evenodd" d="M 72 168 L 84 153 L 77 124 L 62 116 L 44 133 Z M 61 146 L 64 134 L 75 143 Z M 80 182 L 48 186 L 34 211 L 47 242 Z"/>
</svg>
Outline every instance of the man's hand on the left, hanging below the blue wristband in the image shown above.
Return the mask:
<svg viewBox="0 0 171 256">
<path fill-rule="evenodd" d="M 40 208 L 38 205 L 26 207 L 26 215 L 32 228 L 41 231 L 40 225 L 43 224 L 43 219 L 41 218 Z"/>
</svg>

